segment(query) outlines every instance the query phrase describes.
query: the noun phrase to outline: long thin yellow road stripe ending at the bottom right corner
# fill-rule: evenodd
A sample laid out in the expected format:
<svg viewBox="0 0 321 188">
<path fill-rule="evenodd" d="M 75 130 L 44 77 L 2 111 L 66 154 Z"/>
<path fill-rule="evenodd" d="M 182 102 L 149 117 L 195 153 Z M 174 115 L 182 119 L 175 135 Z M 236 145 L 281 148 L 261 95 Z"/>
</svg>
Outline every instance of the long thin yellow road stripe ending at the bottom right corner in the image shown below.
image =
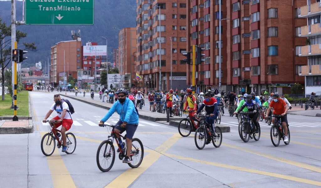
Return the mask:
<svg viewBox="0 0 321 188">
<path fill-rule="evenodd" d="M 281 178 L 281 179 L 285 179 L 285 180 L 290 180 L 290 181 L 295 181 L 295 182 L 300 182 L 300 183 L 305 183 L 305 184 L 321 186 L 321 182 L 318 182 L 318 181 L 308 180 L 308 179 L 298 178 L 298 177 L 293 177 L 293 176 L 289 176 L 289 175 L 277 174 L 277 173 L 274 173 L 274 172 L 266 172 L 266 171 L 254 170 L 254 169 L 250 169 L 250 168 L 243 168 L 243 167 L 240 167 L 240 166 L 225 165 L 225 164 L 214 163 L 214 162 L 210 162 L 210 161 L 204 161 L 204 160 L 200 160 L 200 159 L 183 157 L 183 156 L 178 156 L 178 155 L 168 154 L 168 153 L 164 153 L 164 155 L 166 155 L 168 157 L 173 157 L 173 158 L 193 161 L 193 162 L 197 162 L 197 163 L 203 163 L 203 164 L 212 165 L 212 166 L 218 166 L 218 167 L 222 167 L 222 168 L 228 168 L 228 169 L 232 169 L 232 170 L 239 170 L 239 171 L 243 171 L 243 172 L 266 175 L 266 176 Z"/>
</svg>

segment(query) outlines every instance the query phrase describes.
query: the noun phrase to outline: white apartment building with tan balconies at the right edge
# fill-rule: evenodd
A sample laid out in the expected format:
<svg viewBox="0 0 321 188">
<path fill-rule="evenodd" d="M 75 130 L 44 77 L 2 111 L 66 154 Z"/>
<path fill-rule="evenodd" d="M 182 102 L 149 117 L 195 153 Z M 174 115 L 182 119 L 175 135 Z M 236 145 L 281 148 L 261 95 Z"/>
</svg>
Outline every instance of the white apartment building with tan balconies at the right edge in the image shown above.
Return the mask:
<svg viewBox="0 0 321 188">
<path fill-rule="evenodd" d="M 303 18 L 305 26 L 298 28 L 300 37 L 308 37 L 306 46 L 299 53 L 307 57 L 307 62 L 299 67 L 299 75 L 305 77 L 305 94 L 321 92 L 321 3 L 320 0 L 308 0 L 297 8 L 296 17 Z"/>
</svg>

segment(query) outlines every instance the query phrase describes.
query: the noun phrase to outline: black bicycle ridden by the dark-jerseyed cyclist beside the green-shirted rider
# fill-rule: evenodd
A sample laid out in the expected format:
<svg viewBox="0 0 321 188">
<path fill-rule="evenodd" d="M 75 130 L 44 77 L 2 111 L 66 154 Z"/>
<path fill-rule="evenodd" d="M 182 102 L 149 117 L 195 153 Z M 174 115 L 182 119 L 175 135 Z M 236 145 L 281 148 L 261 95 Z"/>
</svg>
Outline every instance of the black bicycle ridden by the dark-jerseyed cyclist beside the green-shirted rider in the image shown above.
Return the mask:
<svg viewBox="0 0 321 188">
<path fill-rule="evenodd" d="M 249 118 L 250 113 L 253 112 L 240 112 L 239 114 L 242 116 L 241 121 L 239 122 L 239 136 L 244 142 L 248 142 L 250 138 L 254 138 L 255 141 L 258 141 L 261 136 L 260 124 L 257 122 L 257 127 L 255 126 L 253 120 Z M 251 134 L 253 134 L 253 137 Z"/>
</svg>

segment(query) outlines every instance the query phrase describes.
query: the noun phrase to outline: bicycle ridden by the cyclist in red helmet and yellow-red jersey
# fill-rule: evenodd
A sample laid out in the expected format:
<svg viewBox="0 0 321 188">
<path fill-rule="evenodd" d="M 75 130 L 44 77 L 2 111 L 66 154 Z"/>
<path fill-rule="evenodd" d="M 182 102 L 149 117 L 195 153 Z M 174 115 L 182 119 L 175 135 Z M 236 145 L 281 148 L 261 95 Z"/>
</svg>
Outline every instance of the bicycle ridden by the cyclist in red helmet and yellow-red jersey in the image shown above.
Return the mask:
<svg viewBox="0 0 321 188">
<path fill-rule="evenodd" d="M 195 121 L 192 119 L 192 116 L 189 115 L 190 112 L 194 112 L 194 111 L 183 111 L 183 112 L 188 112 L 187 117 L 182 119 L 181 121 L 179 121 L 178 124 L 178 132 L 182 137 L 188 137 L 192 130 L 196 130 L 199 127 L 199 122 L 200 119 L 198 117 L 194 117 L 196 118 L 198 121 Z"/>
</svg>

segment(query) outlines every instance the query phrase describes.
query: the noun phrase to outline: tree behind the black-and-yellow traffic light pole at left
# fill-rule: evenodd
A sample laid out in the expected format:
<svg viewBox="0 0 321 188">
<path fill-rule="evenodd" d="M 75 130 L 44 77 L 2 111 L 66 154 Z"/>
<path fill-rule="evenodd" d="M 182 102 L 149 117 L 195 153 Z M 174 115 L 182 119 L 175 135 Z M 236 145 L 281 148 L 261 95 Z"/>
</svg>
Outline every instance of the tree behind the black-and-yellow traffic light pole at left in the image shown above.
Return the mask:
<svg viewBox="0 0 321 188">
<path fill-rule="evenodd" d="M 19 41 L 26 37 L 27 34 L 17 30 L 16 31 L 16 41 Z M 11 26 L 6 26 L 6 23 L 2 21 L 0 17 L 0 66 L 1 66 L 1 84 L 4 88 L 4 69 L 9 65 L 11 62 Z M 37 47 L 35 43 L 25 43 L 23 42 L 22 45 L 24 46 L 23 50 L 31 50 L 36 51 Z M 2 100 L 4 101 L 4 89 L 2 90 Z"/>
</svg>

